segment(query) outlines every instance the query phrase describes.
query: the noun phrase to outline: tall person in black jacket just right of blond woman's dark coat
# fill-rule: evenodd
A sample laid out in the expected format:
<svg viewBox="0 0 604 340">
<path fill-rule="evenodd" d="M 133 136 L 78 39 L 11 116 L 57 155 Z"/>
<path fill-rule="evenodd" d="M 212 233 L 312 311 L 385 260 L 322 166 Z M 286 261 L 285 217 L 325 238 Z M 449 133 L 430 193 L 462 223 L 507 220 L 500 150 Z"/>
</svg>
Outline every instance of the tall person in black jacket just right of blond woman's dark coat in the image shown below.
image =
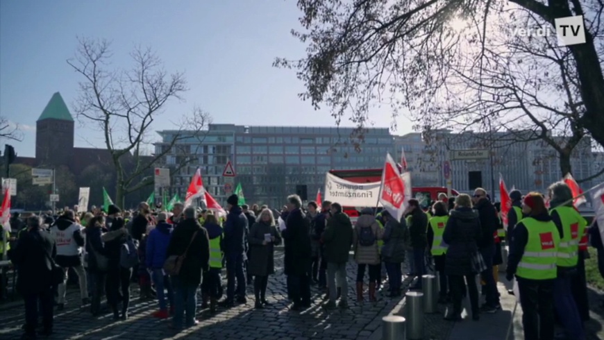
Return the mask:
<svg viewBox="0 0 604 340">
<path fill-rule="evenodd" d="M 478 242 L 478 250 L 483 255 L 487 269 L 480 274 L 485 281 L 486 303 L 482 306 L 485 313 L 493 314 L 501 309 L 499 303 L 499 292 L 497 291 L 497 283 L 493 275 L 493 258 L 495 256 L 495 233 L 499 226 L 497 210 L 489 198 L 485 189 L 478 188 L 474 190 L 472 198 L 474 208 L 478 210 L 478 218 L 480 219 L 480 228 L 482 229 L 482 238 Z"/>
</svg>

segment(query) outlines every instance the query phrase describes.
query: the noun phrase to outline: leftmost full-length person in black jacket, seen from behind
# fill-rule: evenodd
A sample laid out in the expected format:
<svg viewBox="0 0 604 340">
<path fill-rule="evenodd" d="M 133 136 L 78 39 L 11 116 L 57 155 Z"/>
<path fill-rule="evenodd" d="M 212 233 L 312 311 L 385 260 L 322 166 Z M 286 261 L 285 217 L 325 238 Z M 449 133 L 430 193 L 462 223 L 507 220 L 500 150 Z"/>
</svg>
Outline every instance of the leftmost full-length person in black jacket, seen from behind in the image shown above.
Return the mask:
<svg viewBox="0 0 604 340">
<path fill-rule="evenodd" d="M 52 258 L 56 255 L 56 243 L 49 233 L 40 229 L 40 217 L 27 219 L 28 229 L 19 237 L 12 252 L 17 266 L 17 291 L 24 297 L 25 334 L 22 339 L 35 339 L 38 306 L 42 312 L 42 334 L 49 336 L 53 329 Z"/>
</svg>

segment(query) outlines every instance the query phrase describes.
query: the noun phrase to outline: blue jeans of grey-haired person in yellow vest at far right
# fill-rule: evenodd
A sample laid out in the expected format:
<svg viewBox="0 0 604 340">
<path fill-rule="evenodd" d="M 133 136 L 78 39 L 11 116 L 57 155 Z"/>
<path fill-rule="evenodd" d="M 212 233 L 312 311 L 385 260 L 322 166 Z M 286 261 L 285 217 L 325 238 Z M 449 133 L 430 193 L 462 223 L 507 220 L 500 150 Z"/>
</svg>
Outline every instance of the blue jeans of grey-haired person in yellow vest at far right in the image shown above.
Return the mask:
<svg viewBox="0 0 604 340">
<path fill-rule="evenodd" d="M 585 339 L 579 309 L 571 291 L 571 274 L 558 274 L 554 280 L 554 307 L 570 339 Z"/>
</svg>

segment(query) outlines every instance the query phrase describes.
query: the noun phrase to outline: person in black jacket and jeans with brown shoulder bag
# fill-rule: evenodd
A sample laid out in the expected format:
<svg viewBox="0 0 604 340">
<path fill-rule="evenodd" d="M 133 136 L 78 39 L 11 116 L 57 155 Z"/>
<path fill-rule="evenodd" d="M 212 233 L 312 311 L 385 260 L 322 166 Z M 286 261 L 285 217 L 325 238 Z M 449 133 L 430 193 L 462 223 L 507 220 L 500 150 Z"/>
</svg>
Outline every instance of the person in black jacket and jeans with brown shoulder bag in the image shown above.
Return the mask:
<svg viewBox="0 0 604 340">
<path fill-rule="evenodd" d="M 195 320 L 197 289 L 203 271 L 210 266 L 208 231 L 199 225 L 194 207 L 185 208 L 184 219 L 174 228 L 166 251 L 166 258 L 181 255 L 185 256 L 181 270 L 172 276 L 175 307 L 172 328 L 176 330 L 183 328 L 183 321 L 187 328 L 199 323 Z"/>
</svg>

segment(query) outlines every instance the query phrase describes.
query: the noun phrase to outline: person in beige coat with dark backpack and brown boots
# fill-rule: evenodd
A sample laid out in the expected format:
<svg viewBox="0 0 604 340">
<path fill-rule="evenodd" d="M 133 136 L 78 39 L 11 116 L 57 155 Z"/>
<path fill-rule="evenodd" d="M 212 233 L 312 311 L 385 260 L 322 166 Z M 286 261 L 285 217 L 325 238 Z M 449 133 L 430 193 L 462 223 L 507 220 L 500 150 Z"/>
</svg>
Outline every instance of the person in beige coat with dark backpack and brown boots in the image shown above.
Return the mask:
<svg viewBox="0 0 604 340">
<path fill-rule="evenodd" d="M 378 241 L 383 239 L 383 229 L 376 218 L 374 210 L 366 207 L 361 210 L 353 232 L 353 250 L 357 262 L 357 300 L 363 300 L 363 278 L 365 268 L 369 272 L 369 301 L 376 302 L 376 287 L 380 280 L 380 250 Z"/>
</svg>

